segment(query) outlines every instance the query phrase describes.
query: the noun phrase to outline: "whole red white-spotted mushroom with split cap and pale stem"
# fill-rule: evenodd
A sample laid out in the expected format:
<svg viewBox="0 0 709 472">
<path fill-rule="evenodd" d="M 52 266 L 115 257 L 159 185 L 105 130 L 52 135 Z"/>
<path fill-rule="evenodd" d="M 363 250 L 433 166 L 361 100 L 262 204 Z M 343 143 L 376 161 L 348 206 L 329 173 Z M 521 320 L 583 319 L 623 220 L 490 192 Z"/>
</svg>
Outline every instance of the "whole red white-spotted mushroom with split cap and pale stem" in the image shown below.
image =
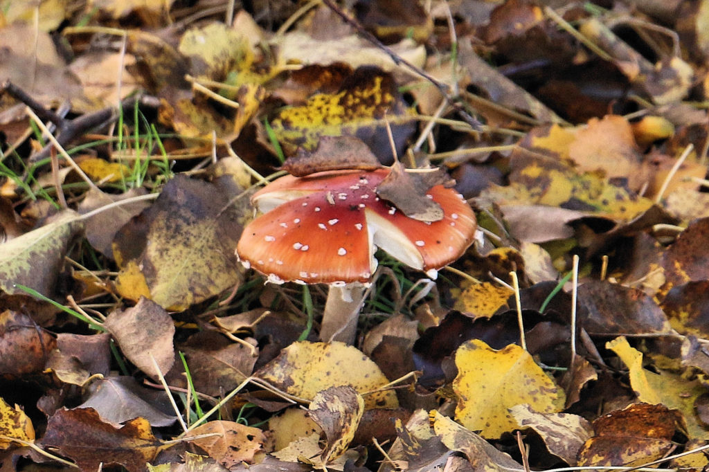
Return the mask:
<svg viewBox="0 0 709 472">
<path fill-rule="evenodd" d="M 443 218 L 415 220 L 376 196 L 389 169 L 338 170 L 281 177 L 252 196 L 260 215 L 243 230 L 236 253 L 274 283 L 328 283 L 320 338 L 352 342 L 364 288 L 383 249 L 432 279 L 474 240 L 475 215 L 442 185 L 426 192 Z"/>
</svg>

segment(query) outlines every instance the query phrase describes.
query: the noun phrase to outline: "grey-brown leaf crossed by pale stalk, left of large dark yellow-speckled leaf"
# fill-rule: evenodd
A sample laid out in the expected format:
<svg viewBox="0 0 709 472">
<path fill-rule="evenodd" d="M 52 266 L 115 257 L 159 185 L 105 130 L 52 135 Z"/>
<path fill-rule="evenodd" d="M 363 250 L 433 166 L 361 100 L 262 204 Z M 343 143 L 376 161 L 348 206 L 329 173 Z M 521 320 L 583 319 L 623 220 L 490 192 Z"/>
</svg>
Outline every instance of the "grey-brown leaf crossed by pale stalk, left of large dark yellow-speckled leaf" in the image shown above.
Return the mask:
<svg viewBox="0 0 709 472">
<path fill-rule="evenodd" d="M 96 210 L 116 201 L 125 200 L 134 196 L 145 195 L 143 189 L 130 189 L 119 195 L 104 193 L 96 189 L 90 189 L 86 192 L 84 200 L 79 204 L 79 213 L 86 214 L 91 210 Z M 116 237 L 116 232 L 121 229 L 125 223 L 128 223 L 130 218 L 138 215 L 141 211 L 150 206 L 146 201 L 135 201 L 125 205 L 114 206 L 113 208 L 96 213 L 86 220 L 86 239 L 89 240 L 91 246 L 97 251 L 104 254 L 106 257 L 113 258 L 113 238 Z"/>
</svg>

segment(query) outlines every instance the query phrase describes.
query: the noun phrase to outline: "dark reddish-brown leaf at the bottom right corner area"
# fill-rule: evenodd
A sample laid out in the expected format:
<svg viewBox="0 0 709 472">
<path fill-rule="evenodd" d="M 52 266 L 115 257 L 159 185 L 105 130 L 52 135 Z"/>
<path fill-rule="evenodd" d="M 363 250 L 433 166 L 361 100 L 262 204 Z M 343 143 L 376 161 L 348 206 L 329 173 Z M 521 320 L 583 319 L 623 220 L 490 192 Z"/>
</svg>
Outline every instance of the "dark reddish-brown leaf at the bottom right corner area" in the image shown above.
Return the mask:
<svg viewBox="0 0 709 472">
<path fill-rule="evenodd" d="M 683 430 L 682 415 L 662 405 L 635 403 L 593 422 L 595 432 L 579 450 L 579 466 L 639 466 L 661 459 Z"/>
</svg>

